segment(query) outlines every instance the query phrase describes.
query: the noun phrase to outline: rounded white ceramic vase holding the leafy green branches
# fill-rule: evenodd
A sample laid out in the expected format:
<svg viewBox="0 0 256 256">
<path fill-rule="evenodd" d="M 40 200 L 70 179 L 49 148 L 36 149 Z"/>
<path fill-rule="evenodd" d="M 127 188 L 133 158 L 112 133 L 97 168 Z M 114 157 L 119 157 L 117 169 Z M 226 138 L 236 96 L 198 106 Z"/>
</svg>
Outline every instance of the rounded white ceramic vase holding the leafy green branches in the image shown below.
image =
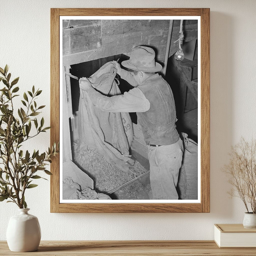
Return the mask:
<svg viewBox="0 0 256 256">
<path fill-rule="evenodd" d="M 28 214 L 30 209 L 19 209 L 20 214 L 10 218 L 6 240 L 13 252 L 33 252 L 38 249 L 41 229 L 36 216 Z"/>
</svg>

